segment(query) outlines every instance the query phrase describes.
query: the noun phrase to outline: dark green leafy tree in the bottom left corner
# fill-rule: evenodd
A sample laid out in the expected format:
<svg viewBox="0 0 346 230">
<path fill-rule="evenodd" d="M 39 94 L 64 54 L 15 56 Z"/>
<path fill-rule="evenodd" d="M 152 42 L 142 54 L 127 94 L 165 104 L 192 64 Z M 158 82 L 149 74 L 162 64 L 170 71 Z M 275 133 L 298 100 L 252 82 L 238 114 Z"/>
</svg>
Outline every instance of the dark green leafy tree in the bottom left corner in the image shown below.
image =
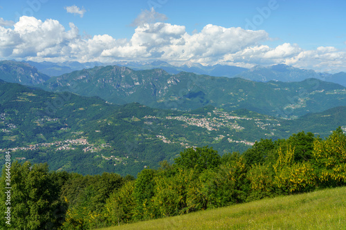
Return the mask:
<svg viewBox="0 0 346 230">
<path fill-rule="evenodd" d="M 5 211 L 6 171 L 1 175 L 1 213 Z M 11 226 L 9 229 L 58 229 L 64 220 L 60 184 L 48 173 L 47 164 L 12 163 L 10 168 Z M 1 227 L 4 227 L 1 221 Z"/>
</svg>

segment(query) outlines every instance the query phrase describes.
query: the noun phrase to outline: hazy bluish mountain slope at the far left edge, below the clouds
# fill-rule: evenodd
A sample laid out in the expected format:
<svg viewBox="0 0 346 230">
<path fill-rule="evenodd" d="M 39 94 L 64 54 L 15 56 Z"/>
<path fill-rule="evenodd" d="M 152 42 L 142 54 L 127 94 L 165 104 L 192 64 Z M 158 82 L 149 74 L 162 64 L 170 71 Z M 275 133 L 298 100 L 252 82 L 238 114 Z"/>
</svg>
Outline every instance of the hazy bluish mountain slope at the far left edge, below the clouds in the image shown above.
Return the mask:
<svg viewBox="0 0 346 230">
<path fill-rule="evenodd" d="M 0 61 L 0 79 L 6 82 L 27 86 L 46 82 L 47 75 L 39 73 L 37 68 L 19 61 Z"/>
</svg>

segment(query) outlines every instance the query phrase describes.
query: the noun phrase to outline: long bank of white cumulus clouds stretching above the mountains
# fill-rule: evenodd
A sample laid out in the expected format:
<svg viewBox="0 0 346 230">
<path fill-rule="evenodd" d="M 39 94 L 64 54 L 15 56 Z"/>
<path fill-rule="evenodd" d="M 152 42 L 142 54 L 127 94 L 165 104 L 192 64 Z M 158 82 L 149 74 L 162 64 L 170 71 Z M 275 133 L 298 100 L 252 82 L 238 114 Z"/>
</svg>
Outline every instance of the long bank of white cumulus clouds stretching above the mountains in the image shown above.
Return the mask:
<svg viewBox="0 0 346 230">
<path fill-rule="evenodd" d="M 41 21 L 23 16 L 13 28 L 0 25 L 0 57 L 33 61 L 154 60 L 182 63 L 228 64 L 251 68 L 255 65 L 287 64 L 298 68 L 345 71 L 346 50 L 321 46 L 304 50 L 298 44 L 271 47 L 264 30 L 224 28 L 209 24 L 192 34 L 185 26 L 144 23 L 131 39 L 109 35 L 80 36 L 73 23 L 69 28 L 53 19 Z"/>
</svg>

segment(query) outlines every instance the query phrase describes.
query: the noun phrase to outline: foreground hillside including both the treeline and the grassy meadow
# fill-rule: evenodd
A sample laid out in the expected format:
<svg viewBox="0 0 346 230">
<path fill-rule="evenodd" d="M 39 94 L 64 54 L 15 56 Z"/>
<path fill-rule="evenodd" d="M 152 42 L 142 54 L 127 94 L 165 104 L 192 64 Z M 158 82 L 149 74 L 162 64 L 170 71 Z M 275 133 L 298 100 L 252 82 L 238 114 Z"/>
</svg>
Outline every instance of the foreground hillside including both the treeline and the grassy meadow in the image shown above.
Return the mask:
<svg viewBox="0 0 346 230">
<path fill-rule="evenodd" d="M 49 171 L 48 164 L 10 159 L 0 181 L 22 188 L 11 193 L 9 229 L 343 229 L 345 149 L 337 128 L 324 140 L 304 132 L 261 140 L 242 154 L 188 148 L 174 164 L 161 162 L 137 178 Z M 6 196 L 1 186 L 0 200 Z"/>
</svg>

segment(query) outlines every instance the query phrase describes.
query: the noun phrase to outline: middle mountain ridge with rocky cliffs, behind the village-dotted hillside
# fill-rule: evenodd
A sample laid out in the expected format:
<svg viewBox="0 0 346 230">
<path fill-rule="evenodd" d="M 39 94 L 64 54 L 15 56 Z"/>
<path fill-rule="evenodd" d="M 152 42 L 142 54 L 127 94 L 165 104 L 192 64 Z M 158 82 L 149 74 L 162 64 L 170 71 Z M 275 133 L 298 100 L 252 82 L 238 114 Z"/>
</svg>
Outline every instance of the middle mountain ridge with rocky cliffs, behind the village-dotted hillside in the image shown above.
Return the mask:
<svg viewBox="0 0 346 230">
<path fill-rule="evenodd" d="M 318 113 L 346 106 L 346 88 L 318 79 L 302 82 L 252 82 L 241 78 L 210 77 L 161 69 L 132 70 L 95 67 L 52 77 L 40 87 L 98 96 L 114 104 L 138 102 L 154 108 L 191 110 L 211 105 L 279 117 Z"/>
</svg>

